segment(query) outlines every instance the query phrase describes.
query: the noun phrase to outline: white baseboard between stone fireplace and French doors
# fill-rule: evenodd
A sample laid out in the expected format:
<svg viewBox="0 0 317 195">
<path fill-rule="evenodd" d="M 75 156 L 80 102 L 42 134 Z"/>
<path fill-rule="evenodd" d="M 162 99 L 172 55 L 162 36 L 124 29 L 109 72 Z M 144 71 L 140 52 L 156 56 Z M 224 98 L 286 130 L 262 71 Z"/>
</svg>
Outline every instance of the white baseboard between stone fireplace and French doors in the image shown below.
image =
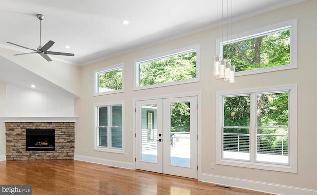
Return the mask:
<svg viewBox="0 0 317 195">
<path fill-rule="evenodd" d="M 133 163 L 121 162 L 115 160 L 107 160 L 102 158 L 94 158 L 89 156 L 74 155 L 74 160 L 103 164 L 107 166 L 119 167 L 124 169 L 133 169 Z"/>
</svg>

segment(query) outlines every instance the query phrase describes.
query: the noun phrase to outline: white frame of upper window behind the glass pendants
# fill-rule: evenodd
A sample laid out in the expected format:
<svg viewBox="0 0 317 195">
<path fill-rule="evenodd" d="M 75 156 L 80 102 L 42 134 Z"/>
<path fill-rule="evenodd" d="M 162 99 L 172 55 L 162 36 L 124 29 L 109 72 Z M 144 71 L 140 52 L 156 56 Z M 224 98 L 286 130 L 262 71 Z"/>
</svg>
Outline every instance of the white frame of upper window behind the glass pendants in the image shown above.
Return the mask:
<svg viewBox="0 0 317 195">
<path fill-rule="evenodd" d="M 264 36 L 270 33 L 279 32 L 279 31 L 283 31 L 287 29 L 290 29 L 290 64 L 279 65 L 274 67 L 266 67 L 266 68 L 255 69 L 255 70 L 239 71 L 235 73 L 235 76 L 238 77 L 238 76 L 244 76 L 244 75 L 252 75 L 252 74 L 259 74 L 264 72 L 274 72 L 279 70 L 288 70 L 288 69 L 297 68 L 297 19 L 281 22 L 278 24 L 266 26 L 266 27 L 251 30 L 251 31 L 246 31 L 246 32 L 235 34 L 232 36 L 219 38 L 217 39 L 217 46 L 218 46 L 217 55 L 223 56 L 224 44 L 229 44 L 232 42 Z"/>
</svg>

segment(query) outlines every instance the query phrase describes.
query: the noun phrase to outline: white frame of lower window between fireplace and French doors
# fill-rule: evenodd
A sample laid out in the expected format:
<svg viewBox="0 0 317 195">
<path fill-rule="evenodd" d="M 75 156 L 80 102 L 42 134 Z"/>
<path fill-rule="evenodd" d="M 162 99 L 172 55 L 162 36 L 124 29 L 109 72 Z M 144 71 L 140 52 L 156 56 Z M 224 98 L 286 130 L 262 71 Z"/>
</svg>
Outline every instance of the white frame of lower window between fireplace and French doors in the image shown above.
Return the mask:
<svg viewBox="0 0 317 195">
<path fill-rule="evenodd" d="M 111 147 L 104 147 L 104 146 L 99 146 L 99 134 L 98 134 L 98 128 L 99 128 L 99 112 L 98 109 L 100 107 L 111 107 L 111 106 L 122 106 L 122 135 L 121 135 L 121 142 L 122 142 L 122 147 L 121 148 L 111 148 Z M 109 115 L 111 116 L 112 111 L 109 111 L 111 109 L 108 109 L 108 118 Z M 102 151 L 102 152 L 112 152 L 112 153 L 124 153 L 124 102 L 123 101 L 117 101 L 117 102 L 108 102 L 108 103 L 96 103 L 94 104 L 94 151 Z M 107 134 L 107 142 L 108 146 L 111 142 L 111 129 L 110 126 L 111 121 L 108 121 L 108 132 L 110 134 Z"/>
</svg>

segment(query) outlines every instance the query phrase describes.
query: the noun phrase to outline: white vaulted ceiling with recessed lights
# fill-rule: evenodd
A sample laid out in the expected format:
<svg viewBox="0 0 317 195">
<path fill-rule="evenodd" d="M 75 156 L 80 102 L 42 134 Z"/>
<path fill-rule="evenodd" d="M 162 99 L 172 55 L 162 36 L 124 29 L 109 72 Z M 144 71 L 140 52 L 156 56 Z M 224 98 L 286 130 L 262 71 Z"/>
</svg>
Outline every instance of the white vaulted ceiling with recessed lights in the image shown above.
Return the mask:
<svg viewBox="0 0 317 195">
<path fill-rule="evenodd" d="M 42 45 L 53 40 L 49 50 L 75 53 L 52 59 L 86 65 L 211 28 L 227 16 L 234 21 L 300 1 L 304 0 L 0 0 L 0 47 L 30 52 L 9 41 L 37 49 L 36 15 L 43 14 Z"/>
</svg>

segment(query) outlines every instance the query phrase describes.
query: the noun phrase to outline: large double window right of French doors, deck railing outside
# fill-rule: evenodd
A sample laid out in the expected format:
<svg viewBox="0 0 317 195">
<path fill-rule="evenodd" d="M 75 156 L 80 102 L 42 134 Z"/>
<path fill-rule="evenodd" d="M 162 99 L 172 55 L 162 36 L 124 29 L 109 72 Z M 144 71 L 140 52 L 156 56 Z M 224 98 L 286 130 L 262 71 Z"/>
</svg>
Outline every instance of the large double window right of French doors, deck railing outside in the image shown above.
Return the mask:
<svg viewBox="0 0 317 195">
<path fill-rule="evenodd" d="M 297 171 L 296 86 L 217 92 L 217 163 Z"/>
</svg>

